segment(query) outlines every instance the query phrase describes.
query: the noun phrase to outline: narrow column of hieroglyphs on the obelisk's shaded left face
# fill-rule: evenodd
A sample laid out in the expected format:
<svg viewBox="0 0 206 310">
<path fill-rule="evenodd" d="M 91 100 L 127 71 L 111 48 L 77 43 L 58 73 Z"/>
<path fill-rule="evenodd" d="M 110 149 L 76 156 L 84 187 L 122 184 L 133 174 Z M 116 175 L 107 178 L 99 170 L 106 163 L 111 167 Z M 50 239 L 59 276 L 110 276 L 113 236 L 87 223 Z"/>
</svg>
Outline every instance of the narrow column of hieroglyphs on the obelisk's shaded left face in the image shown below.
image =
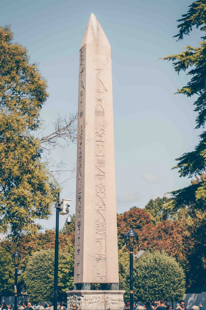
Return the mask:
<svg viewBox="0 0 206 310">
<path fill-rule="evenodd" d="M 78 180 L 78 199 L 77 199 L 77 265 L 76 265 L 76 277 L 77 282 L 80 276 L 80 252 L 81 252 L 81 210 L 82 210 L 82 143 L 83 143 L 83 113 L 84 113 L 84 100 L 85 100 L 85 60 L 86 60 L 86 47 L 82 47 L 80 50 L 80 59 L 79 59 L 79 84 L 80 84 L 80 93 L 79 93 L 79 111 L 78 111 L 78 159 L 77 159 L 77 180 Z"/>
</svg>

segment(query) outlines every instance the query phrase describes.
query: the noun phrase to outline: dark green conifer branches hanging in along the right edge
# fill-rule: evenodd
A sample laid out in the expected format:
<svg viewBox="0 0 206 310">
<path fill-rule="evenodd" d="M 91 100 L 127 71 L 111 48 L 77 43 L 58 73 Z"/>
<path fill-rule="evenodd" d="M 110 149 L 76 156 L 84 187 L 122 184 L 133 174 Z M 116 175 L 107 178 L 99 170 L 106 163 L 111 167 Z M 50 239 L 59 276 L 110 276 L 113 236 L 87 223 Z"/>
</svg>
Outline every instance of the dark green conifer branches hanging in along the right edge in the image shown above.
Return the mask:
<svg viewBox="0 0 206 310">
<path fill-rule="evenodd" d="M 196 128 L 205 128 L 206 122 L 206 1 L 198 0 L 189 6 L 186 14 L 178 20 L 179 33 L 174 37 L 182 40 L 184 35 L 189 35 L 193 27 L 199 28 L 203 32 L 203 37 L 199 42 L 199 47 L 184 47 L 180 54 L 168 55 L 163 60 L 171 60 L 177 73 L 186 71 L 191 76 L 191 80 L 178 89 L 178 94 L 187 97 L 195 95 Z M 206 208 L 206 131 L 199 136 L 199 143 L 194 151 L 184 153 L 176 159 L 178 161 L 174 168 L 178 169 L 182 177 L 197 177 L 197 182 L 185 188 L 171 192 L 172 199 L 165 204 L 170 209 L 178 209 L 182 206 L 189 208 Z M 199 177 L 200 176 L 200 177 Z"/>
</svg>

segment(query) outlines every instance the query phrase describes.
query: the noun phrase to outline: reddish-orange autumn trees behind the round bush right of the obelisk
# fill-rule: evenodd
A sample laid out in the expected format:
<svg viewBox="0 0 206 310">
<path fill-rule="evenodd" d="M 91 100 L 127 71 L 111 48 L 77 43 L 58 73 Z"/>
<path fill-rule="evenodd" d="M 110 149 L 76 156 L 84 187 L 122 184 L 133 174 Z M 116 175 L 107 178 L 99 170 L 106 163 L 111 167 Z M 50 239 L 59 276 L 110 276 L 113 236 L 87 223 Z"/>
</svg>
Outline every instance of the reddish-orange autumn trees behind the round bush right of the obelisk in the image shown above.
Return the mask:
<svg viewBox="0 0 206 310">
<path fill-rule="evenodd" d="M 158 197 L 149 201 L 149 208 L 133 207 L 123 214 L 117 214 L 119 267 L 123 275 L 120 275 L 120 278 L 124 278 L 128 263 L 128 260 L 125 260 L 127 256 L 125 256 L 124 234 L 131 227 L 138 233 L 136 251 L 165 251 L 183 267 L 187 287 L 204 286 L 206 284 L 205 211 L 184 208 L 160 221 L 164 201 L 164 197 Z"/>
</svg>

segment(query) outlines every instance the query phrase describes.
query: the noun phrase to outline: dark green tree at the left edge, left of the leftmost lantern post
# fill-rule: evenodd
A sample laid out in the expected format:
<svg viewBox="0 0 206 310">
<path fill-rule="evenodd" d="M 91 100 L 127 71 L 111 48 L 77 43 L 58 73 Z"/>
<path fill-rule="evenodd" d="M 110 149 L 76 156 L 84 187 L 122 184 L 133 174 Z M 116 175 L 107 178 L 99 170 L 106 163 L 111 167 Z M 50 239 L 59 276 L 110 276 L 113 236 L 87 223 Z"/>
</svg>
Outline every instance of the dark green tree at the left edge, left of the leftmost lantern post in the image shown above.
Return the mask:
<svg viewBox="0 0 206 310">
<path fill-rule="evenodd" d="M 0 246 L 0 292 L 7 288 L 13 290 L 14 285 L 14 267 L 11 255 L 8 255 L 4 248 Z"/>
</svg>

